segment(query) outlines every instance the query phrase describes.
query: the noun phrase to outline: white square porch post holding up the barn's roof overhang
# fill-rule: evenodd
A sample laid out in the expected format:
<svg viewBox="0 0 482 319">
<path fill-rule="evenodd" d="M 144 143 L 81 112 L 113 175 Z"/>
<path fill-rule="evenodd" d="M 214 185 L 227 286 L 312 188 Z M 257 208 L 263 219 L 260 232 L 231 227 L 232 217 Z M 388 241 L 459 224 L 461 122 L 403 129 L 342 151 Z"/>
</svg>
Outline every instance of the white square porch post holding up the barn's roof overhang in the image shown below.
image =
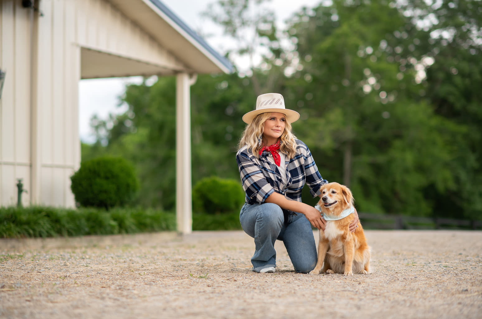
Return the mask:
<svg viewBox="0 0 482 319">
<path fill-rule="evenodd" d="M 192 232 L 191 97 L 187 73 L 176 77 L 176 222 L 177 232 Z"/>
</svg>

